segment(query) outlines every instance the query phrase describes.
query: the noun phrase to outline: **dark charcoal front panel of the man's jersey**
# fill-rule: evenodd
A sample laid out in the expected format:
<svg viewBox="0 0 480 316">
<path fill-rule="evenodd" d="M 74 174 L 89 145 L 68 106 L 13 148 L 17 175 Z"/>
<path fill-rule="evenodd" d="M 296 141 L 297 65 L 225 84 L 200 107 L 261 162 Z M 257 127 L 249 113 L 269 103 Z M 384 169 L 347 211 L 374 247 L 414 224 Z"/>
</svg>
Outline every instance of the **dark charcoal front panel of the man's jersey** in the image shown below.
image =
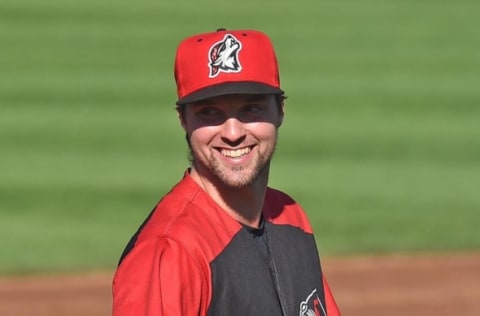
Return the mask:
<svg viewBox="0 0 480 316">
<path fill-rule="evenodd" d="M 323 282 L 313 235 L 289 225 L 266 223 L 268 257 L 241 229 L 211 262 L 208 315 L 299 315 L 313 290 L 322 300 Z"/>
</svg>

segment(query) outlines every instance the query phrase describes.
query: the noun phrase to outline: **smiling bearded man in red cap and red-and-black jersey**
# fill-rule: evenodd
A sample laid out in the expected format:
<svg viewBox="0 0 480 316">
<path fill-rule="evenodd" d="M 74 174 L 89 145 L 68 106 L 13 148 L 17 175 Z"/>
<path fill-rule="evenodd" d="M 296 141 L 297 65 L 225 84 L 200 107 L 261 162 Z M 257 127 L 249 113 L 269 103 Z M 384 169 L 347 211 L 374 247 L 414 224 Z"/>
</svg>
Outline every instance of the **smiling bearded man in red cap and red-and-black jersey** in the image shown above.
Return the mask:
<svg viewBox="0 0 480 316">
<path fill-rule="evenodd" d="M 339 315 L 305 213 L 267 186 L 284 117 L 269 38 L 189 37 L 175 79 L 191 167 L 125 249 L 113 315 Z"/>
</svg>

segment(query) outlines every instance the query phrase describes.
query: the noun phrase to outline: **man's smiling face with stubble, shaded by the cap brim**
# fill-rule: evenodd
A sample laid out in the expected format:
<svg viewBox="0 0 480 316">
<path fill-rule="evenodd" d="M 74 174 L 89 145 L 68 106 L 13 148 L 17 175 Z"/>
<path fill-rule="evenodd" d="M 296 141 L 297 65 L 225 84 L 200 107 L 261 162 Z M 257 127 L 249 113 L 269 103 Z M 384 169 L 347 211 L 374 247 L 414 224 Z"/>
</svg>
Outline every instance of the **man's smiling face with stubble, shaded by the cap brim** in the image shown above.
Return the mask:
<svg viewBox="0 0 480 316">
<path fill-rule="evenodd" d="M 268 177 L 283 119 L 273 95 L 219 96 L 185 106 L 181 123 L 203 180 L 243 188 Z"/>
</svg>

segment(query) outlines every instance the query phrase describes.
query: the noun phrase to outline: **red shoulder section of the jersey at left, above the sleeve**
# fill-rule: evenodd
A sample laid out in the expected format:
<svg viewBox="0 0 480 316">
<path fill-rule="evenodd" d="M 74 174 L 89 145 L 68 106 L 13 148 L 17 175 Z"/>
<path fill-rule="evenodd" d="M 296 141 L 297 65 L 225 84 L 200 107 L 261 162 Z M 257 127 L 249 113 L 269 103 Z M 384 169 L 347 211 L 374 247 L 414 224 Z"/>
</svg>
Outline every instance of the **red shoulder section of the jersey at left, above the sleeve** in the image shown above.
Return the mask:
<svg viewBox="0 0 480 316">
<path fill-rule="evenodd" d="M 209 262 L 224 249 L 241 225 L 189 180 L 182 180 L 160 200 L 123 257 L 133 248 L 153 247 L 157 251 L 175 243 L 195 260 Z"/>
</svg>

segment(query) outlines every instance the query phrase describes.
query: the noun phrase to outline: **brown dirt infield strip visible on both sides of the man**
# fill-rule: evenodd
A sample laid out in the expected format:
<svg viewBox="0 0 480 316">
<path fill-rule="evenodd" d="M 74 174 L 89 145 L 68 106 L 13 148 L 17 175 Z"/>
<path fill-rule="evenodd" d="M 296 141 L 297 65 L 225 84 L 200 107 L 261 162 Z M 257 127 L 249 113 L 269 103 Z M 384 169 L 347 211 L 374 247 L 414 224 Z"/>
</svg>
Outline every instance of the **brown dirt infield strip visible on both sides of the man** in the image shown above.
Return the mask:
<svg viewBox="0 0 480 316">
<path fill-rule="evenodd" d="M 480 315 L 480 253 L 326 258 L 342 315 Z M 1 316 L 111 313 L 112 273 L 0 278 Z"/>
</svg>

